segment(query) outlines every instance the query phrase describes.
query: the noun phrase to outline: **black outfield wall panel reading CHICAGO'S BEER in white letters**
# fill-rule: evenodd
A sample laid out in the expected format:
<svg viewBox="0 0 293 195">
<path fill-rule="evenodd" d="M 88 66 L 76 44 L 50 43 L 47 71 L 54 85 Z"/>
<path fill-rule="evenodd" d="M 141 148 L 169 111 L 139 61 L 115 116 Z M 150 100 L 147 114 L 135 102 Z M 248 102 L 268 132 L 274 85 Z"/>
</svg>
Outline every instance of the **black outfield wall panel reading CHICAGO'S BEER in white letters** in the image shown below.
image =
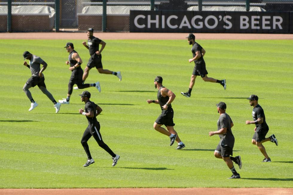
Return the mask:
<svg viewBox="0 0 293 195">
<path fill-rule="evenodd" d="M 293 12 L 130 11 L 130 32 L 293 33 Z"/>
</svg>

